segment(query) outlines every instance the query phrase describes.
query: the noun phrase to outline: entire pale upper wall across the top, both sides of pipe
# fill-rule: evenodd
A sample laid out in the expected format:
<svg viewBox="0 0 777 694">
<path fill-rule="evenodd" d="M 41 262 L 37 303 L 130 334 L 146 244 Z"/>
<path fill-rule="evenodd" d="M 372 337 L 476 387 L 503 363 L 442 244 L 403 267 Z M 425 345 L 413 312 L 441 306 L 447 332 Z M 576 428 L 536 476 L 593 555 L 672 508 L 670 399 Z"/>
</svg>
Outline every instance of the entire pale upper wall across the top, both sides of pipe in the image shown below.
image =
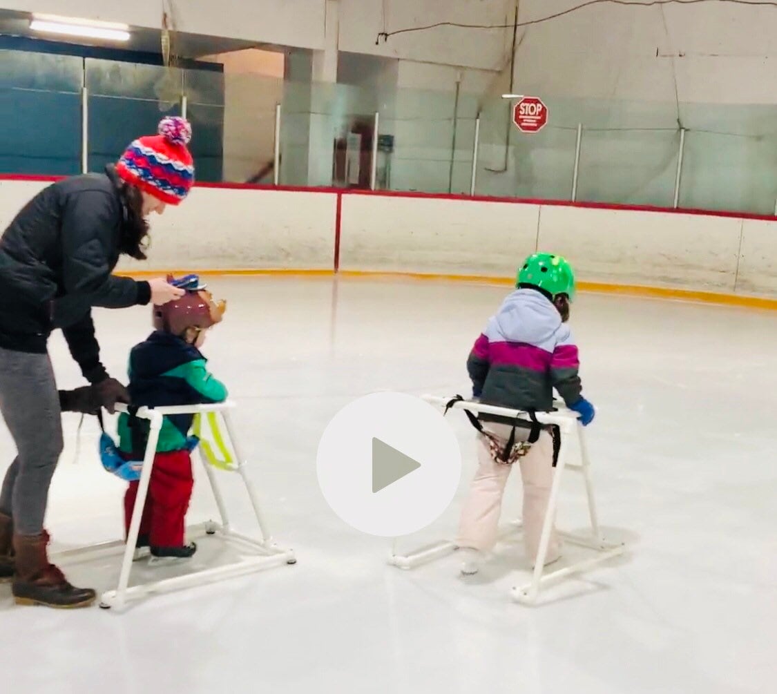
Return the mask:
<svg viewBox="0 0 777 694">
<path fill-rule="evenodd" d="M 579 0 L 521 0 L 521 22 Z M 3 8 L 160 25 L 159 0 L 2 0 Z M 178 29 L 322 51 L 326 0 L 175 2 Z M 440 27 L 375 44 L 378 32 L 437 22 L 510 23 L 514 0 L 338 0 L 337 48 L 416 63 L 500 71 L 511 29 Z M 385 15 L 384 15 L 385 9 Z M 602 4 L 521 29 L 515 78 L 545 95 L 674 103 L 777 101 L 775 9 L 709 2 L 664 7 Z M 677 92 L 675 93 L 675 78 Z"/>
</svg>

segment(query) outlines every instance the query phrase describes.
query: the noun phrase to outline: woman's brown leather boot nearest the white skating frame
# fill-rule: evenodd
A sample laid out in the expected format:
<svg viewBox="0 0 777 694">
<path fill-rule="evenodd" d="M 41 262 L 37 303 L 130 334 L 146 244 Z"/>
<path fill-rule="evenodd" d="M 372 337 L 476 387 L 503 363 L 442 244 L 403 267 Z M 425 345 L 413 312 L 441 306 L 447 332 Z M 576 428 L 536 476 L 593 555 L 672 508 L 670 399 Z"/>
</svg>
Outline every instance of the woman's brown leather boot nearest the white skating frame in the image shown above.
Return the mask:
<svg viewBox="0 0 777 694">
<path fill-rule="evenodd" d="M 12 592 L 17 605 L 46 605 L 56 608 L 88 607 L 95 601 L 92 588 L 74 588 L 61 570 L 49 563 L 47 533 L 14 535 L 16 575 Z"/>
</svg>

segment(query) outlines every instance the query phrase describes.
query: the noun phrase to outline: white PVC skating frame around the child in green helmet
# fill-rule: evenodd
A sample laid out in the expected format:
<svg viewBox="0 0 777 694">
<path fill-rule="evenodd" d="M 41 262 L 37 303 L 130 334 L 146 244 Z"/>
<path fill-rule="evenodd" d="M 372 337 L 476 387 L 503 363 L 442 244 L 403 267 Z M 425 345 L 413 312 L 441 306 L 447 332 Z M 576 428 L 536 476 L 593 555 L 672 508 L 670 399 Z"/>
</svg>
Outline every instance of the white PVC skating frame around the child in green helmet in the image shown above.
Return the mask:
<svg viewBox="0 0 777 694">
<path fill-rule="evenodd" d="M 469 410 L 473 413 L 497 414 L 501 417 L 510 417 L 511 419 L 529 420 L 529 415 L 521 410 L 509 410 L 505 407 L 484 405 L 467 400 L 452 400 L 451 398 L 441 398 L 437 396 L 424 396 L 428 403 L 448 406 L 451 403 L 451 409 Z M 559 581 L 571 574 L 578 574 L 584 570 L 594 567 L 598 563 L 611 559 L 625 552 L 625 545 L 622 542 L 606 542 L 601 536 L 599 530 L 599 521 L 596 513 L 596 504 L 594 503 L 594 487 L 591 481 L 591 462 L 588 458 L 588 450 L 585 441 L 584 429 L 577 419 L 577 414 L 570 410 L 561 409 L 556 412 L 536 413 L 537 420 L 542 424 L 556 424 L 561 431 L 561 446 L 559 448 L 559 459 L 556 462 L 556 472 L 553 475 L 553 484 L 550 491 L 548 510 L 545 512 L 545 521 L 542 524 L 542 535 L 540 537 L 537 560 L 531 576 L 531 581 L 527 584 L 515 586 L 511 593 L 516 602 L 531 605 L 537 601 L 539 591 L 549 584 Z M 572 464 L 566 462 L 570 436 L 577 436 L 580 445 L 580 463 Z M 573 545 L 582 546 L 594 550 L 594 555 L 587 559 L 579 560 L 570 565 L 559 567 L 556 570 L 546 570 L 545 557 L 548 553 L 550 534 L 553 525 L 553 518 L 556 517 L 556 506 L 558 504 L 559 489 L 565 470 L 573 470 L 582 473 L 585 492 L 588 504 L 588 516 L 591 521 L 591 535 L 585 537 L 574 535 L 569 532 L 558 532 L 559 537 L 565 539 Z M 500 539 L 513 535 L 521 529 L 521 521 L 510 523 L 503 532 L 500 532 Z M 444 540 L 430 546 L 416 549 L 413 552 L 399 554 L 396 551 L 397 541 L 394 541 L 392 556 L 389 563 L 400 569 L 413 569 L 420 564 L 428 563 L 443 556 L 455 552 L 457 549 L 455 542 Z"/>
</svg>

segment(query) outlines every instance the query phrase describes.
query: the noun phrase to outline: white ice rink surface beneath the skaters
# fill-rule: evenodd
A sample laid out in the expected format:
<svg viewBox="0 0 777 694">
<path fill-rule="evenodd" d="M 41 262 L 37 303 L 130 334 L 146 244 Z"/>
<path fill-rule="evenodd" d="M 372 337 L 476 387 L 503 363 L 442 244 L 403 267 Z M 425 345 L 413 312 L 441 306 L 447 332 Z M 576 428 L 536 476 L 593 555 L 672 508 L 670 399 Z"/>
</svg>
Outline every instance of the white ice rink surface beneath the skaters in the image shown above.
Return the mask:
<svg viewBox="0 0 777 694">
<path fill-rule="evenodd" d="M 391 542 L 340 521 L 315 474 L 319 436 L 351 399 L 383 389 L 469 394 L 467 354 L 509 288 L 210 283 L 228 311 L 204 353 L 239 403 L 234 420 L 267 520 L 298 564 L 148 598 L 124 614 L 16 608 L 0 586 L 2 692 L 774 691 L 777 314 L 579 296 L 571 325 L 584 394 L 598 407 L 587 433 L 599 514 L 629 552 L 528 608 L 509 595 L 528 575 L 520 542 L 501 545 L 467 580 L 455 556 L 398 570 L 386 564 Z M 151 330 L 148 309 L 99 310 L 96 323 L 103 361 L 123 376 L 128 350 Z M 61 387 L 80 385 L 61 335 L 50 344 Z M 462 413 L 448 417 L 465 454 L 458 496 L 402 548 L 455 529 L 474 431 Z M 77 424 L 65 415 L 47 518 L 55 549 L 121 530 L 123 483 L 99 466 L 93 419 L 74 462 Z M 3 470 L 13 447 L 5 427 L 0 435 Z M 235 526 L 253 532 L 241 491 L 225 480 Z M 520 514 L 519 499 L 515 476 L 504 520 Z M 559 525 L 584 528 L 583 500 L 569 476 Z M 190 521 L 213 511 L 198 485 Z M 193 565 L 221 555 L 206 542 Z M 74 583 L 106 590 L 118 562 L 64 568 Z"/>
</svg>

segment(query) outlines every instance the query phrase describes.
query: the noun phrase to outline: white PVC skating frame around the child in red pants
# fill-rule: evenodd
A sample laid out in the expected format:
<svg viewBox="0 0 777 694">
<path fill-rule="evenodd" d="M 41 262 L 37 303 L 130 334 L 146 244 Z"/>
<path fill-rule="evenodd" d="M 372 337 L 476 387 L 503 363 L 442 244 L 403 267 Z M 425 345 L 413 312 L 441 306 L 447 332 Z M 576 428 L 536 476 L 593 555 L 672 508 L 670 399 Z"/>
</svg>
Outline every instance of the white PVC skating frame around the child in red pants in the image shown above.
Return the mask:
<svg viewBox="0 0 777 694">
<path fill-rule="evenodd" d="M 68 560 L 89 560 L 99 556 L 123 553 L 121 563 L 121 573 L 119 584 L 116 590 L 107 591 L 100 595 L 100 607 L 103 608 L 124 608 L 128 601 L 138 598 L 144 598 L 154 593 L 166 593 L 176 591 L 182 588 L 192 588 L 198 585 L 204 585 L 219 581 L 225 578 L 242 576 L 262 569 L 280 566 L 282 564 L 296 563 L 294 552 L 291 549 L 283 549 L 273 541 L 267 531 L 267 523 L 264 521 L 259 501 L 256 497 L 256 491 L 253 484 L 246 474 L 246 462 L 240 454 L 235 431 L 229 418 L 228 410 L 235 407 L 234 403 L 220 403 L 215 405 L 195 405 L 195 406 L 172 406 L 172 407 L 141 407 L 137 416 L 149 420 L 150 427 L 148 432 L 148 444 L 146 445 L 145 457 L 143 459 L 143 468 L 141 478 L 138 481 L 138 496 L 135 499 L 134 509 L 132 511 L 132 521 L 130 524 L 129 536 L 127 542 L 117 540 L 114 542 L 103 542 L 96 545 L 86 546 L 78 549 L 71 549 L 52 555 L 52 558 L 67 563 Z M 123 405 L 117 406 L 120 412 L 127 412 Z M 227 510 L 224 503 L 224 497 L 221 496 L 221 490 L 216 482 L 216 473 L 214 468 L 207 462 L 204 462 L 207 479 L 211 484 L 213 496 L 218 506 L 218 513 L 221 522 L 206 521 L 198 525 L 192 525 L 186 528 L 186 539 L 197 539 L 204 535 L 215 535 L 218 539 L 228 542 L 233 546 L 246 552 L 245 556 L 239 561 L 230 563 L 221 567 L 200 570 L 183 576 L 165 578 L 160 581 L 152 581 L 145 584 L 129 586 L 130 572 L 135 558 L 135 546 L 138 542 L 138 532 L 141 525 L 141 514 L 148 495 L 148 483 L 151 480 L 152 467 L 154 466 L 154 456 L 156 452 L 157 441 L 159 441 L 159 431 L 162 428 L 162 418 L 169 414 L 207 414 L 218 413 L 225 424 L 228 443 L 235 453 L 235 463 L 228 469 L 229 472 L 237 473 L 248 494 L 253 512 L 256 516 L 256 524 L 259 526 L 260 538 L 255 539 L 249 535 L 242 535 L 235 532 L 229 523 Z M 200 456 L 202 457 L 202 456 Z"/>
</svg>

